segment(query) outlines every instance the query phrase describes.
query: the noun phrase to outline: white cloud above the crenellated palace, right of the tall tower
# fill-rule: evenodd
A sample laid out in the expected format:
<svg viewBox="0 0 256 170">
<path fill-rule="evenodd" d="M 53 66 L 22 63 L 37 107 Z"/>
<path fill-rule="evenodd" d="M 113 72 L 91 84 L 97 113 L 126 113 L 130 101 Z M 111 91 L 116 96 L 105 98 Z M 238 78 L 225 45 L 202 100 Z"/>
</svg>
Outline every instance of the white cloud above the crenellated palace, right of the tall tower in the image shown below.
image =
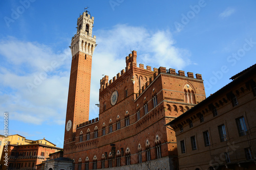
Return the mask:
<svg viewBox="0 0 256 170">
<path fill-rule="evenodd" d="M 168 30 L 151 32 L 143 27 L 116 25 L 111 30 L 98 30 L 98 46 L 93 54 L 90 118 L 98 116 L 99 81 L 102 75 L 112 79 L 125 69 L 125 57 L 137 51 L 139 63 L 153 67 L 183 69 L 191 64 L 189 51 L 178 48 Z M 130 51 L 131 50 L 131 51 Z"/>
</svg>

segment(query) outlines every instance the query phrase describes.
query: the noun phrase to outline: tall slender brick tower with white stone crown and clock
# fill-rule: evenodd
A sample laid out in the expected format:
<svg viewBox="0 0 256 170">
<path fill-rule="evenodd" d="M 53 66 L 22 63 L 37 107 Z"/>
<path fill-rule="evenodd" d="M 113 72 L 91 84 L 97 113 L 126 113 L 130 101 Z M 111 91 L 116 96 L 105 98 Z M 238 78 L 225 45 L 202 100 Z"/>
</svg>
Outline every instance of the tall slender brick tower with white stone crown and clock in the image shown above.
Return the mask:
<svg viewBox="0 0 256 170">
<path fill-rule="evenodd" d="M 94 17 L 88 11 L 77 19 L 77 34 L 72 37 L 72 63 L 64 143 L 74 140 L 76 125 L 89 119 L 92 55 L 96 36 L 92 37 Z"/>
</svg>

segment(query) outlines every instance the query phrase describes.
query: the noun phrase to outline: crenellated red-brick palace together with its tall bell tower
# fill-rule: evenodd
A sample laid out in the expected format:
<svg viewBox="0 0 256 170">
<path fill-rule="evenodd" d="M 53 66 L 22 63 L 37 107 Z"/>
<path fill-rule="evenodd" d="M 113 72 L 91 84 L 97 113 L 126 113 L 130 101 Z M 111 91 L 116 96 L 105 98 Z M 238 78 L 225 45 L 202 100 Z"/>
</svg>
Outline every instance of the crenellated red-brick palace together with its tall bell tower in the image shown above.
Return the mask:
<svg viewBox="0 0 256 170">
<path fill-rule="evenodd" d="M 99 117 L 89 120 L 94 17 L 77 19 L 63 156 L 73 169 L 177 169 L 176 137 L 164 125 L 205 99 L 200 74 L 137 66 L 137 52 L 113 79 L 100 80 Z M 111 68 L 111 66 L 110 66 Z"/>
</svg>

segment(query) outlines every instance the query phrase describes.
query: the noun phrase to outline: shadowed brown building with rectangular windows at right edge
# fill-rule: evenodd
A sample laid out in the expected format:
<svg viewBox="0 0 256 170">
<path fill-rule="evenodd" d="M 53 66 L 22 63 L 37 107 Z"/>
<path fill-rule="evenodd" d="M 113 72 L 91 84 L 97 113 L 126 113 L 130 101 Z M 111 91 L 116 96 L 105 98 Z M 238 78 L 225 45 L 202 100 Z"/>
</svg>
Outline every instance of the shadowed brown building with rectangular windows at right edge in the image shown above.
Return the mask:
<svg viewBox="0 0 256 170">
<path fill-rule="evenodd" d="M 256 64 L 166 126 L 180 170 L 256 169 Z"/>
</svg>

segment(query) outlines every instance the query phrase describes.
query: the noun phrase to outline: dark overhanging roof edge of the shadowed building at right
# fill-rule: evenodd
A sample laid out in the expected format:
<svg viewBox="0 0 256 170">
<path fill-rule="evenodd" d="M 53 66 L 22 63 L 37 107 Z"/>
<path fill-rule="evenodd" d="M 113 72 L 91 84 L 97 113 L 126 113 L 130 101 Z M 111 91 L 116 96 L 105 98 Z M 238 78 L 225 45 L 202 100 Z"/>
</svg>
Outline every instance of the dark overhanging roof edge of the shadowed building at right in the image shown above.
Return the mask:
<svg viewBox="0 0 256 170">
<path fill-rule="evenodd" d="M 177 118 L 173 119 L 172 121 L 167 123 L 165 126 L 172 126 L 173 124 L 181 120 L 183 117 L 186 117 L 190 113 L 193 113 L 195 110 L 199 109 L 201 106 L 204 106 L 205 104 L 209 103 L 215 98 L 218 98 L 219 95 L 226 93 L 226 91 L 229 91 L 234 85 L 243 82 L 243 80 L 245 80 L 246 78 L 250 77 L 253 74 L 256 74 L 256 64 L 246 68 L 245 70 L 239 72 L 239 74 L 231 77 L 230 79 L 233 79 L 232 82 L 228 83 L 226 86 L 222 87 L 220 90 L 218 90 L 214 94 L 211 94 L 210 96 L 208 96 L 208 98 L 206 98 L 205 100 L 203 100 L 202 102 L 194 106 L 193 108 L 187 110 L 185 113 L 181 114 Z"/>
</svg>

